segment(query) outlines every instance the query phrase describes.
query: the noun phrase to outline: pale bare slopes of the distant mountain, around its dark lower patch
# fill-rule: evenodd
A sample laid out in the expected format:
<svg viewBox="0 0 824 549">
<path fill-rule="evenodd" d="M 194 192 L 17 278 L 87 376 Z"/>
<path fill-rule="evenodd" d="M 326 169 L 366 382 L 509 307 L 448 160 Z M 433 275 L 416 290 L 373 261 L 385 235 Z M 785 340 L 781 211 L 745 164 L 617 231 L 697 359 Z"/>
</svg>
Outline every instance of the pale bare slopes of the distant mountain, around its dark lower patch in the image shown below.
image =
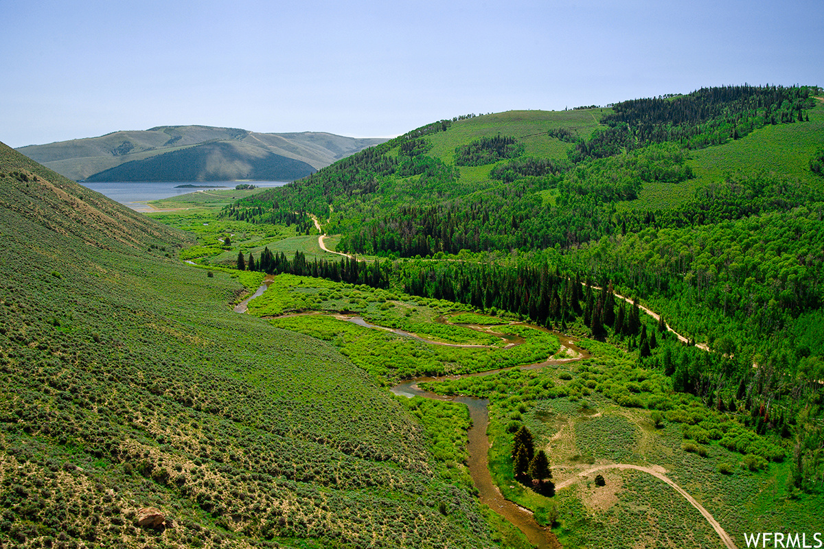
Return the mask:
<svg viewBox="0 0 824 549">
<path fill-rule="evenodd" d="M 266 162 L 271 165 L 274 157 L 281 165 L 291 166 L 293 171 L 296 166 L 302 166 L 302 170 L 308 174 L 383 141 L 386 140 L 342 137 L 332 133 L 255 133 L 238 128 L 158 126 L 145 131 L 114 132 L 101 137 L 30 145 L 21 147 L 18 151 L 69 179 L 83 180 L 115 166 L 145 161 L 166 152 L 197 148 L 215 142 L 232 143 L 234 147 L 228 155 L 218 154 L 214 149 L 194 153 L 204 159 L 205 163 L 214 166 L 211 176 L 217 174 L 222 178 L 220 180 L 229 180 L 255 179 L 247 177 L 253 171 L 252 168 L 262 158 L 267 159 Z M 148 167 L 147 170 L 152 168 Z M 274 179 L 290 179 L 287 176 L 293 174 L 293 171 L 287 170 L 283 177 Z M 118 172 L 110 174 L 116 176 Z M 271 176 L 266 177 L 268 179 Z M 169 176 L 164 180 L 176 179 Z"/>
</svg>

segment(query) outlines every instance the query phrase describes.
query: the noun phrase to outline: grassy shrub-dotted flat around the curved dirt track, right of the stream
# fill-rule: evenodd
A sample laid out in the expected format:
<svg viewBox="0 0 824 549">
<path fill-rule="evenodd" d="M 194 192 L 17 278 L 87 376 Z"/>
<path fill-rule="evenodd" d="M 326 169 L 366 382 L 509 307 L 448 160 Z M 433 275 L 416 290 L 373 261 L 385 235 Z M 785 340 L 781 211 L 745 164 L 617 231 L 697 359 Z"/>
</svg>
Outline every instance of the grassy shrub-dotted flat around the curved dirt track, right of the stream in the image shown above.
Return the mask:
<svg viewBox="0 0 824 549">
<path fill-rule="evenodd" d="M 708 412 L 697 399 L 672 394 L 666 385 L 655 383 L 654 372 L 633 368 L 631 355 L 621 358 L 622 351 L 603 343 L 582 344 L 594 354 L 586 361 L 426 384 L 438 393 L 489 398 L 489 463 L 494 482 L 508 499 L 529 509 L 548 509 L 553 502 L 558 505 L 561 523 L 555 533 L 563 544 L 719 547 L 720 542 L 709 523 L 681 495 L 643 472 L 609 470 L 602 473 L 606 488 L 597 488 L 590 478 L 558 491 L 553 499 L 537 495 L 513 479 L 513 426 L 531 430 L 536 449 L 545 449 L 550 457 L 556 483 L 593 465 L 659 466 L 741 545 L 744 532 L 816 531 L 824 501 L 817 494 L 786 490 L 788 462 L 774 462 L 765 471 L 751 472 L 744 466 L 745 456 L 724 448 L 718 440 L 697 443 L 685 439 L 692 432 L 691 423 L 728 430 L 736 425 L 735 416 Z M 622 384 L 635 384 L 642 393 L 649 392 L 649 402 L 671 398 L 670 405 L 684 411 L 689 423 L 664 421 L 656 428 L 648 410 L 616 403 L 620 400 L 616 385 Z M 689 444 L 704 449 L 705 457 L 686 451 Z M 724 473 L 723 464 L 732 467 Z"/>
</svg>

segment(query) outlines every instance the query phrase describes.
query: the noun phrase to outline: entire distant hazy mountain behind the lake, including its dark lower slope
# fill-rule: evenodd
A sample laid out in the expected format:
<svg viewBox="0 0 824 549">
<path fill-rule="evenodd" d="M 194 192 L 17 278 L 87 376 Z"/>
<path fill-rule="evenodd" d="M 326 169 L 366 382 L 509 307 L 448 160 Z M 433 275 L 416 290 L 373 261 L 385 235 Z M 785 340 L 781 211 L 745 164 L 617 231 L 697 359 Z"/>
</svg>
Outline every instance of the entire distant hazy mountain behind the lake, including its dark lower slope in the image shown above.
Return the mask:
<svg viewBox="0 0 824 549">
<path fill-rule="evenodd" d="M 158 126 L 17 151 L 76 181 L 291 181 L 385 141 L 332 133 Z"/>
</svg>

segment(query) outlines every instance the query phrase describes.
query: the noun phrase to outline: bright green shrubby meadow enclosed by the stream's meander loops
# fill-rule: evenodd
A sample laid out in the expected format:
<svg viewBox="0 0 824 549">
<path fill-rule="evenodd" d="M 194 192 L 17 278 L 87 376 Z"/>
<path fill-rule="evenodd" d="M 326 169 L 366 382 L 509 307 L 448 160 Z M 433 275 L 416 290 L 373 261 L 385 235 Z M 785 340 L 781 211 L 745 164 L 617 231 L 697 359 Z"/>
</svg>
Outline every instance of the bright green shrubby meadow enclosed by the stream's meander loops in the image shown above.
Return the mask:
<svg viewBox="0 0 824 549">
<path fill-rule="evenodd" d="M 461 374 L 544 361 L 558 351 L 550 334 L 522 326 L 506 331 L 527 339 L 523 345 L 502 348 L 498 337 L 470 328 L 434 322 L 465 305 L 392 294 L 368 286 L 353 286 L 311 277 L 279 275 L 269 289 L 249 303 L 249 314 L 269 316 L 297 311 L 349 311 L 378 326 L 400 328 L 423 339 L 364 328 L 325 314 L 272 319 L 274 326 L 332 342 L 344 356 L 366 370 L 378 384 L 433 374 Z M 437 345 L 485 345 L 451 347 Z"/>
</svg>

